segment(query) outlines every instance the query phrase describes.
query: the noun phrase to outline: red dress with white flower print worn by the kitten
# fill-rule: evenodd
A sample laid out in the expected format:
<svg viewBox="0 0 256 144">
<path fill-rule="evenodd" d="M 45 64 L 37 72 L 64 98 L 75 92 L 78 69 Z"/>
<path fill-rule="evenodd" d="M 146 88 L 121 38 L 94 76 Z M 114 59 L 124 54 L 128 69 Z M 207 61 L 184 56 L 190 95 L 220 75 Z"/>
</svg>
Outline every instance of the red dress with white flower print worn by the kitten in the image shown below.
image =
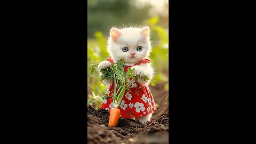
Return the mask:
<svg viewBox="0 0 256 144">
<path fill-rule="evenodd" d="M 113 59 L 108 58 L 107 59 L 110 63 L 113 63 Z M 135 63 L 135 65 L 140 65 L 140 63 L 150 63 L 149 59 L 143 59 L 139 61 L 138 63 Z M 133 65 L 133 66 L 135 66 Z M 127 72 L 128 68 L 132 66 L 125 66 L 124 70 Z M 121 111 L 120 117 L 140 117 L 140 116 L 146 116 L 153 111 L 156 110 L 155 102 L 153 99 L 153 95 L 149 90 L 149 87 L 146 85 L 141 85 L 138 82 L 131 82 L 129 84 L 130 91 L 126 91 L 124 93 L 124 97 L 121 100 L 121 103 L 118 107 Z M 109 94 L 111 97 L 114 93 L 114 82 L 110 84 L 106 94 Z M 110 93 L 111 92 L 111 93 Z M 113 108 L 113 99 L 108 98 L 107 100 L 103 99 L 103 102 L 100 106 L 100 108 L 110 110 Z"/>
</svg>

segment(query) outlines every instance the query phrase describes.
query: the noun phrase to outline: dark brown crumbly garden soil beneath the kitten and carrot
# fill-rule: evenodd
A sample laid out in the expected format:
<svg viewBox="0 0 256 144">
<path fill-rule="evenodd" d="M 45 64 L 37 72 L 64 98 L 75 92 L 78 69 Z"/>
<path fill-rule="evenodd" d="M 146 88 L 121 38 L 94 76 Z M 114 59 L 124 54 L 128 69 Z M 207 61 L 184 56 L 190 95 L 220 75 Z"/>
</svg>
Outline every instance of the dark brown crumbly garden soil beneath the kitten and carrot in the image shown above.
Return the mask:
<svg viewBox="0 0 256 144">
<path fill-rule="evenodd" d="M 109 113 L 105 109 L 87 107 L 87 143 L 168 143 L 169 103 L 164 83 L 150 86 L 158 109 L 150 122 L 142 124 L 133 119 L 120 118 L 116 127 L 108 127 Z"/>
</svg>

